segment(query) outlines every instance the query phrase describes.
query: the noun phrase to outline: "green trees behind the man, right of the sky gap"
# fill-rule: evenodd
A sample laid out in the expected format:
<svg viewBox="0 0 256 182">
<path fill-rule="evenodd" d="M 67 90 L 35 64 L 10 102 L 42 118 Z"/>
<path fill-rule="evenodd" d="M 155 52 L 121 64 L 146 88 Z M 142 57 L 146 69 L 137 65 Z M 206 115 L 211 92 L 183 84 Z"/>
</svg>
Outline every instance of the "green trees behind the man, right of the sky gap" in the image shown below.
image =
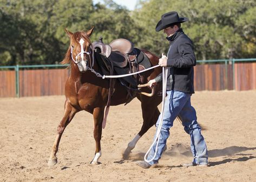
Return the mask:
<svg viewBox="0 0 256 182">
<path fill-rule="evenodd" d="M 167 52 L 168 43 L 162 33 L 154 31 L 155 25 L 163 13 L 178 11 L 189 18 L 182 27 L 194 41 L 198 59 L 255 57 L 255 1 L 151 0 L 140 1 L 140 5 L 133 18 L 150 37 L 141 46 L 159 55 Z"/>
</svg>

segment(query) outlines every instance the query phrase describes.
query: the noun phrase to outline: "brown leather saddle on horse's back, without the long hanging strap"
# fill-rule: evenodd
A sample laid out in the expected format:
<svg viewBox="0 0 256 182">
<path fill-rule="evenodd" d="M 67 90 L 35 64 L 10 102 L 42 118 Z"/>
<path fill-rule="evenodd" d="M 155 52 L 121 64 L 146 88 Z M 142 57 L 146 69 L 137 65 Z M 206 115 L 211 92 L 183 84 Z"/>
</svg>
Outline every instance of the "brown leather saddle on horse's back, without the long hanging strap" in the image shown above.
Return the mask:
<svg viewBox="0 0 256 182">
<path fill-rule="evenodd" d="M 93 51 L 100 50 L 103 64 L 108 70 L 103 71 L 103 74 L 122 75 L 127 73 L 135 73 L 150 67 L 151 64 L 147 56 L 134 47 L 134 44 L 127 39 L 115 39 L 109 45 L 104 44 L 102 38 L 92 44 Z M 96 58 L 99 60 L 99 58 Z M 142 64 L 143 61 L 143 64 Z M 97 61 L 99 62 L 99 61 Z M 137 90 L 139 82 L 138 76 L 126 76 L 119 79 L 121 83 L 128 89 Z"/>
</svg>

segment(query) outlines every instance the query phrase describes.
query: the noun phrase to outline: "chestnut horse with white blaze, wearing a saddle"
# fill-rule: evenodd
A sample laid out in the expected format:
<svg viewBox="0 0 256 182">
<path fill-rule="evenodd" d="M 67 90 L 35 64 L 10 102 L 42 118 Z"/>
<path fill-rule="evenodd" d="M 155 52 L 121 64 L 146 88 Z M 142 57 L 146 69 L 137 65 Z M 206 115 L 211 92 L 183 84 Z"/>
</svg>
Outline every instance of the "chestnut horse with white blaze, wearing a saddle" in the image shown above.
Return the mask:
<svg viewBox="0 0 256 182">
<path fill-rule="evenodd" d="M 57 163 L 56 153 L 58 151 L 63 131 L 71 122 L 75 114 L 81 110 L 86 110 L 93 114 L 94 118 L 94 139 L 96 142 L 96 150 L 91 164 L 98 164 L 99 158 L 101 157 L 102 122 L 104 108 L 108 102 L 109 79 L 102 79 L 94 72 L 91 72 L 91 70 L 88 70 L 88 65 L 93 65 L 92 68 L 94 71 L 99 72 L 99 65 L 97 64 L 97 61 L 95 61 L 94 64 L 91 63 L 91 60 L 94 59 L 94 54 L 91 49 L 91 41 L 89 37 L 93 32 L 93 29 L 94 27 L 87 32 L 81 31 L 75 33 L 65 30 L 70 38 L 70 46 L 61 63 L 70 63 L 70 75 L 65 83 L 66 100 L 64 104 L 64 116 L 57 127 L 57 135 L 48 161 L 49 166 L 53 166 Z M 156 57 L 156 55 L 145 50 L 142 51 L 147 55 L 153 66 L 158 64 L 159 58 Z M 160 67 L 146 71 L 140 79 L 142 80 L 140 84 L 147 83 L 160 73 Z M 156 85 L 155 89 L 156 92 L 160 91 L 161 86 Z M 115 91 L 111 96 L 110 106 L 126 103 L 128 100 L 127 88 L 124 87 L 119 80 L 116 80 L 114 90 Z M 142 88 L 142 91 L 150 92 L 150 88 L 144 87 Z M 137 93 L 136 97 L 141 101 L 143 124 L 140 132 L 131 142 L 129 142 L 127 149 L 124 152 L 124 157 L 129 155 L 140 137 L 156 123 L 157 118 L 160 115 L 157 106 L 161 103 L 162 96 L 154 94 L 152 97 L 148 97 Z"/>
</svg>

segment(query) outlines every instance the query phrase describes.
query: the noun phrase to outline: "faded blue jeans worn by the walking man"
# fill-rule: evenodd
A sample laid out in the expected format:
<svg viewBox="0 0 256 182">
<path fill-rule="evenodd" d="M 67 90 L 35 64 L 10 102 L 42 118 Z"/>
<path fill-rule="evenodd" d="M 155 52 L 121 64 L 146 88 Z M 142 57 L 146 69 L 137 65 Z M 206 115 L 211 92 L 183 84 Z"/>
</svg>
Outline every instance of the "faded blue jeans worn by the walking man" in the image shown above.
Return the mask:
<svg viewBox="0 0 256 182">
<path fill-rule="evenodd" d="M 163 109 L 163 123 L 160 133 L 159 145 L 156 157 L 149 164 L 157 164 L 161 158 L 163 150 L 169 137 L 169 129 L 173 126 L 173 121 L 179 116 L 182 121 L 184 130 L 191 136 L 191 151 L 194 156 L 193 163 L 208 164 L 208 153 L 204 137 L 201 135 L 201 128 L 196 121 L 196 111 L 191 106 L 191 94 L 179 91 L 167 91 L 165 107 Z M 161 115 L 156 122 L 156 130 L 159 126 Z M 155 139 L 156 136 L 154 136 Z M 148 153 L 147 160 L 154 157 L 156 143 Z"/>
</svg>

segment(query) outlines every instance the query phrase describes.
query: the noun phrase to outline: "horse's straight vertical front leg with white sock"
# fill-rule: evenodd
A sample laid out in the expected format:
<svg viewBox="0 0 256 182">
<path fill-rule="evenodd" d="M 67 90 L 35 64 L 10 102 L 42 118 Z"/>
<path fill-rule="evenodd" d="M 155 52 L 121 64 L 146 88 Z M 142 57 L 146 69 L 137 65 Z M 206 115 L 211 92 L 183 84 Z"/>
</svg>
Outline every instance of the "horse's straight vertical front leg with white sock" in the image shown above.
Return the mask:
<svg viewBox="0 0 256 182">
<path fill-rule="evenodd" d="M 94 139 L 96 142 L 95 156 L 91 161 L 91 164 L 99 164 L 99 158 L 101 157 L 101 134 L 102 134 L 102 121 L 104 117 L 104 108 L 94 108 Z"/>
</svg>

